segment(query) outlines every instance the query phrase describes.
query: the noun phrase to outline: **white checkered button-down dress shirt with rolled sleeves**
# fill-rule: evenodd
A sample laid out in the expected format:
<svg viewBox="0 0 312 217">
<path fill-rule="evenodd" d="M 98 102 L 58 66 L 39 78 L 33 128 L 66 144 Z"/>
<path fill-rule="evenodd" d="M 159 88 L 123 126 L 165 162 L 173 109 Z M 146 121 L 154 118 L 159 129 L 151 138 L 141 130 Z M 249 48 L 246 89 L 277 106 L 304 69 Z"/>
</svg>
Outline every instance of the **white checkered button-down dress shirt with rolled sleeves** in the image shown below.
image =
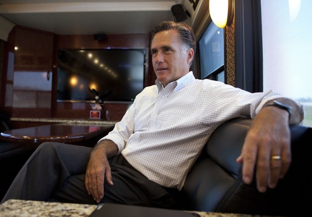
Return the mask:
<svg viewBox="0 0 312 217">
<path fill-rule="evenodd" d="M 190 72 L 165 88 L 146 87 L 123 119 L 102 139 L 148 179 L 183 187 L 186 175 L 212 132 L 234 117 L 254 117 L 273 91 L 249 93 L 221 82 L 197 80 Z"/>
</svg>

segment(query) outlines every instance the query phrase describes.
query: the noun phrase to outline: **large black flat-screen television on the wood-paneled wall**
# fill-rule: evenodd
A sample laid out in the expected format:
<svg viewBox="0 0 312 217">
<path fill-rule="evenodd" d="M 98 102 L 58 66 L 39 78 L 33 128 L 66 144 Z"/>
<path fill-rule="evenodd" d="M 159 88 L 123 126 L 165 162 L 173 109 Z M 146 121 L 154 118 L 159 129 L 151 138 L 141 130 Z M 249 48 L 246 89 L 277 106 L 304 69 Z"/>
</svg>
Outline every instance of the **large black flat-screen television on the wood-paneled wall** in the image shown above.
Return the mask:
<svg viewBox="0 0 312 217">
<path fill-rule="evenodd" d="M 145 53 L 145 49 L 59 50 L 57 101 L 94 102 L 99 93 L 100 102 L 133 101 L 143 90 Z"/>
</svg>

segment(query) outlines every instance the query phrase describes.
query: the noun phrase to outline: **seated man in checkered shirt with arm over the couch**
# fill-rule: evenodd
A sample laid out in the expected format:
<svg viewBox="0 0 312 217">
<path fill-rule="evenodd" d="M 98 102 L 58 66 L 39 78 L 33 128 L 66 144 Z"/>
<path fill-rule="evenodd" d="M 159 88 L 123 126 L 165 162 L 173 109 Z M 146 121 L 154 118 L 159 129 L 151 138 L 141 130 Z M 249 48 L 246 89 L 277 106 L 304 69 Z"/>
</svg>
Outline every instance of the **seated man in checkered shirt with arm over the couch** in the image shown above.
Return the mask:
<svg viewBox="0 0 312 217">
<path fill-rule="evenodd" d="M 174 207 L 211 133 L 238 116 L 254 117 L 237 159 L 243 163 L 243 179 L 251 183 L 256 173 L 259 191 L 274 188 L 291 162 L 289 123 L 302 121 L 302 107 L 273 91 L 252 94 L 220 82 L 196 80 L 189 72 L 195 49 L 189 26 L 162 22 L 155 27 L 150 52 L 156 85 L 138 94 L 123 119 L 94 149 L 42 144 L 3 201 Z M 291 106 L 291 111 L 281 103 Z"/>
</svg>

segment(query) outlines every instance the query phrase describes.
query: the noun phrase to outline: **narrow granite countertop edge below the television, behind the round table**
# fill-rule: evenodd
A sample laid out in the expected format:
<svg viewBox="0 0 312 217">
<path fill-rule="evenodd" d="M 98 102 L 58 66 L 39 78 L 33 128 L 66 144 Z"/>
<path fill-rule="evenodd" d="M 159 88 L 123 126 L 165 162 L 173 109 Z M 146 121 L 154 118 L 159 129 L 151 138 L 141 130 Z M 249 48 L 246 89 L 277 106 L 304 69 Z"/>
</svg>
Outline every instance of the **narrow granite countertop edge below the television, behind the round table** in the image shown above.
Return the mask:
<svg viewBox="0 0 312 217">
<path fill-rule="evenodd" d="M 100 124 L 100 125 L 112 125 L 117 121 L 108 121 L 101 119 L 65 119 L 65 118 L 10 118 L 11 121 L 26 121 L 26 122 L 46 122 L 46 123 L 66 123 L 66 124 Z"/>
</svg>

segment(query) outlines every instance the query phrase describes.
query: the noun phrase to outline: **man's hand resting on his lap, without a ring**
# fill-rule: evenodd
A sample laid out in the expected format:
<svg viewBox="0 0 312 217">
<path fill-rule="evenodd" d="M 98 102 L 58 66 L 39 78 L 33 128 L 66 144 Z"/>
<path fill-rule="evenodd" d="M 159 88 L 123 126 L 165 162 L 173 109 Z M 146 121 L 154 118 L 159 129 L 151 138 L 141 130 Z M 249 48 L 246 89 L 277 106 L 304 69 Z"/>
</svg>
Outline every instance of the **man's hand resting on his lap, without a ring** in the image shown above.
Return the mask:
<svg viewBox="0 0 312 217">
<path fill-rule="evenodd" d="M 104 181 L 113 185 L 111 168 L 108 157 L 116 155 L 117 146 L 109 141 L 98 144 L 90 155 L 86 171 L 85 185 L 86 189 L 92 194 L 94 200 L 100 202 L 104 196 Z"/>
</svg>

